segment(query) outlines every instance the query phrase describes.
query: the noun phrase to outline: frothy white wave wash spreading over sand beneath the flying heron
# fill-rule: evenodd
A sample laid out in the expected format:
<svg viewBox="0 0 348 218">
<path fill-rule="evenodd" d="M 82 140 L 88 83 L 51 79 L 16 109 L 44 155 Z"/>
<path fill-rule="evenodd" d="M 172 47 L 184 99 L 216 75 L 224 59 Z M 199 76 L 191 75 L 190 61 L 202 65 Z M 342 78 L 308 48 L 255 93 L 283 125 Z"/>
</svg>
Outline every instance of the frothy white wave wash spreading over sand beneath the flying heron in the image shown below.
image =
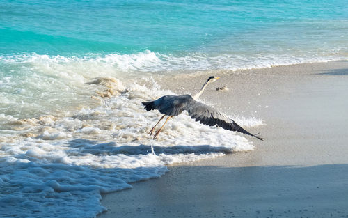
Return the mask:
<svg viewBox="0 0 348 218">
<path fill-rule="evenodd" d="M 158 140 L 150 139 L 148 132 L 161 114 L 145 111 L 141 102 L 173 93 L 151 80 L 146 83 L 91 80 L 84 86 L 104 86 L 109 95 L 95 93 L 97 106 L 88 104 L 62 116 L 19 119 L 0 114 L 13 137 L 0 138 L 0 217 L 49 217 L 56 210 L 58 217 L 95 217 L 106 210 L 100 205 L 102 193 L 160 177 L 167 164 L 253 150 L 244 135 L 202 125 L 186 114 L 170 120 Z M 238 121 L 260 124 L 255 118 Z"/>
</svg>

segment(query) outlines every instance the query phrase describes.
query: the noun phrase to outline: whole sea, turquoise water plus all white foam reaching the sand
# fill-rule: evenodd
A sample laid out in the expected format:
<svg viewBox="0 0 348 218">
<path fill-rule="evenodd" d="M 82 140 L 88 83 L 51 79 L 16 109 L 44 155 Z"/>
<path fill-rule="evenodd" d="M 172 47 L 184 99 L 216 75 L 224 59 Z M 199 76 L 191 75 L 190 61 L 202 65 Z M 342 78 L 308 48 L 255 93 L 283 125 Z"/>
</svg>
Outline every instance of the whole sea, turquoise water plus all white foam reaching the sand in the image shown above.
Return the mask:
<svg viewBox="0 0 348 218">
<path fill-rule="evenodd" d="M 344 0 L 0 0 L 0 217 L 95 217 L 168 164 L 253 150 L 184 115 L 150 139 L 141 102 L 175 94 L 153 77 L 347 59 Z"/>
</svg>

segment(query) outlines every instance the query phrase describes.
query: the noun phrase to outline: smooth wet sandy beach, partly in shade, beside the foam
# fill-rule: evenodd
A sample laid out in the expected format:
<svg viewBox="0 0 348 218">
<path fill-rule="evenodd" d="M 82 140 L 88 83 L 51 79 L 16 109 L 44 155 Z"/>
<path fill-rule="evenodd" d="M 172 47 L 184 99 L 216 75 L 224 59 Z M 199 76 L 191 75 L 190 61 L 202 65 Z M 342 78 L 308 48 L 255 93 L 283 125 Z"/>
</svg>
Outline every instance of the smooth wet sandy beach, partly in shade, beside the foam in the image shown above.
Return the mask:
<svg viewBox="0 0 348 218">
<path fill-rule="evenodd" d="M 348 62 L 161 77 L 228 115 L 255 117 L 255 150 L 168 166 L 158 179 L 102 197 L 98 217 L 348 217 Z M 227 86 L 228 91 L 216 91 Z M 171 120 L 171 122 L 175 122 Z"/>
</svg>

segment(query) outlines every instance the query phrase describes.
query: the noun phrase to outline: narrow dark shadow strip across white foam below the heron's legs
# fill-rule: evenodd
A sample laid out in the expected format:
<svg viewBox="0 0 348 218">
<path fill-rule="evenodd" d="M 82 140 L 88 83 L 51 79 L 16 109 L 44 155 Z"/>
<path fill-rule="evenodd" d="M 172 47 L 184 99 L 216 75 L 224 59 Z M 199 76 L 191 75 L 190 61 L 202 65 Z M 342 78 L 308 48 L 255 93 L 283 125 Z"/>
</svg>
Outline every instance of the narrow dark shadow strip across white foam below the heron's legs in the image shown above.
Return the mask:
<svg viewBox="0 0 348 218">
<path fill-rule="evenodd" d="M 139 144 L 139 146 L 118 146 L 116 142 L 98 143 L 88 139 L 73 139 L 69 141 L 70 148 L 78 149 L 81 153 L 92 155 L 148 155 L 151 153 L 151 145 Z M 232 150 L 223 146 L 153 146 L 157 155 L 175 154 L 207 154 L 207 153 L 232 153 Z"/>
</svg>

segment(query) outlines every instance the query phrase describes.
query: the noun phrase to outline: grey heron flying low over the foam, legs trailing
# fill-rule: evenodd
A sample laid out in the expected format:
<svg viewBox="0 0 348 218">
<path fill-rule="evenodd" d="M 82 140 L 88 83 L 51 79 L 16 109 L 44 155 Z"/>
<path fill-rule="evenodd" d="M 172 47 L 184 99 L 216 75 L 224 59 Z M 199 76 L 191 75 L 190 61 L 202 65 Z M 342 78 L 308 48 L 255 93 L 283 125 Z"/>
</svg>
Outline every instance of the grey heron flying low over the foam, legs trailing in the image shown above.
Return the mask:
<svg viewBox="0 0 348 218">
<path fill-rule="evenodd" d="M 203 104 L 197 101 L 198 97 L 202 95 L 207 85 L 219 78 L 220 77 L 209 77 L 207 81 L 205 81 L 205 84 L 203 84 L 200 91 L 193 97 L 191 95 L 164 95 L 152 102 L 142 102 L 145 106 L 146 111 L 157 109 L 159 112 L 164 114 L 164 116 L 159 119 L 156 125 L 152 127 L 149 134 L 153 134 L 155 127 L 165 116 L 168 116 L 168 118 L 166 118 L 164 125 L 166 125 L 168 120 L 173 116 L 181 114 L 182 111 L 187 111 L 191 118 L 195 119 L 196 121 L 200 121 L 200 123 L 203 123 L 205 125 L 218 125 L 219 127 L 223 127 L 223 129 L 225 130 L 242 132 L 263 141 L 263 139 L 256 136 L 256 134 L 251 134 L 250 132 L 244 130 L 237 123 L 235 123 L 234 120 L 226 116 L 226 114 L 216 111 L 216 109 L 208 106 L 207 104 Z M 164 125 L 162 125 L 161 128 L 157 130 L 153 139 L 156 139 L 158 137 L 158 134 L 159 132 L 161 132 Z"/>
</svg>

